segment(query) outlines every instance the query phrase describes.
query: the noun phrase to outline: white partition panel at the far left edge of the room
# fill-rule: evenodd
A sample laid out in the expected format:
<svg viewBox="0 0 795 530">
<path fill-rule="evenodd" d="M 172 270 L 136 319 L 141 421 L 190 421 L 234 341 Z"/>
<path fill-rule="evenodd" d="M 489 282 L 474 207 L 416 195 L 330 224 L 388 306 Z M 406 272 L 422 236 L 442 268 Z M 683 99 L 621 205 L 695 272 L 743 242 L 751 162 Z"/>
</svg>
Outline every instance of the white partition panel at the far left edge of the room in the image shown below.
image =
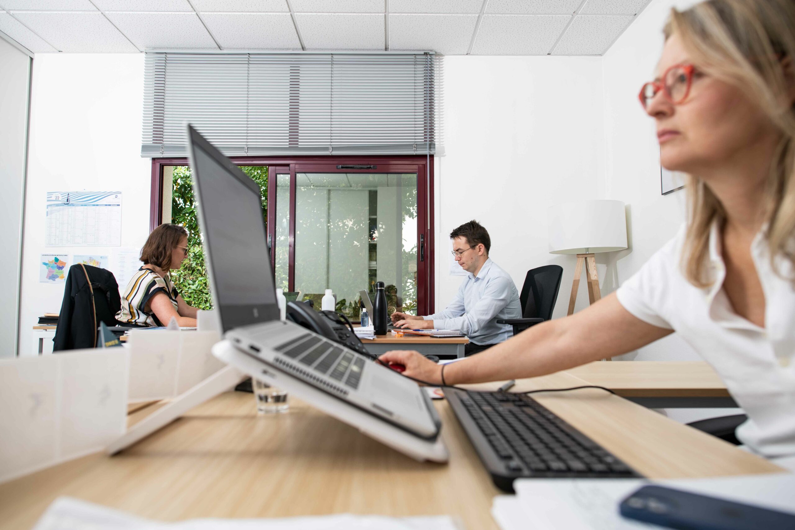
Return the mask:
<svg viewBox="0 0 795 530">
<path fill-rule="evenodd" d="M 25 206 L 30 68 L 33 60 L 0 38 L 0 358 L 17 352 L 22 213 Z"/>
</svg>

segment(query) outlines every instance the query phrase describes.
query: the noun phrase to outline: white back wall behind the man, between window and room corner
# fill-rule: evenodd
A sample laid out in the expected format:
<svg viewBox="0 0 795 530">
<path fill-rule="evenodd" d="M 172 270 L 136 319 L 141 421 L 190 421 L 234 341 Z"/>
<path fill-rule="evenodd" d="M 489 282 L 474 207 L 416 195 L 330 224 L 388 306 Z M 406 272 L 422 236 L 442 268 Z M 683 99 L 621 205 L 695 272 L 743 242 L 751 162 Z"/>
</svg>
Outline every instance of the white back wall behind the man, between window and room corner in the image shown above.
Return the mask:
<svg viewBox="0 0 795 530">
<path fill-rule="evenodd" d="M 521 290 L 533 267 L 564 268 L 565 315 L 576 257 L 549 253 L 547 207 L 598 194 L 604 172 L 600 57 L 444 58 L 436 157 L 436 311 L 461 277 L 448 273 L 448 234 L 470 219 L 489 230 L 491 257 Z M 584 282 L 577 308 L 588 304 Z"/>
</svg>

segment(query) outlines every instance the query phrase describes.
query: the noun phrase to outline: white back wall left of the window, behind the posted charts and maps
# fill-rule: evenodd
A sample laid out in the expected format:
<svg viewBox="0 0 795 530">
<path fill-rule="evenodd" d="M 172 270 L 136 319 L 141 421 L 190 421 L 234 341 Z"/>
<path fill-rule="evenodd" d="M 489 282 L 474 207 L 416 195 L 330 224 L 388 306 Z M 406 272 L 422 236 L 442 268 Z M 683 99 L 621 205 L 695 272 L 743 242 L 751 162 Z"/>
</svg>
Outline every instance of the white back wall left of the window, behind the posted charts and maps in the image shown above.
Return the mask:
<svg viewBox="0 0 795 530">
<path fill-rule="evenodd" d="M 25 198 L 20 354 L 31 327 L 60 310 L 63 285 L 39 283 L 41 253 L 111 255 L 114 247 L 46 247 L 47 191 L 121 190 L 122 246 L 149 235 L 149 159 L 140 155 L 143 55 L 39 54 L 33 62 Z"/>
</svg>

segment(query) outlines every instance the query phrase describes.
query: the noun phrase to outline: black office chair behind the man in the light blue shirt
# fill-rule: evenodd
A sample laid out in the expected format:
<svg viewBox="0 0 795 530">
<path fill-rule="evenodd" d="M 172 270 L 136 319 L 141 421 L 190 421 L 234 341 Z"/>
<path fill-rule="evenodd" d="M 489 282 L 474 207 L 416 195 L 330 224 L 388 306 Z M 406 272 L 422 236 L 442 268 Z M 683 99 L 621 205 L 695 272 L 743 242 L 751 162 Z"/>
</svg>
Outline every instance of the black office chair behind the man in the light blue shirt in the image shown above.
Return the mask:
<svg viewBox="0 0 795 530">
<path fill-rule="evenodd" d="M 518 335 L 530 326 L 552 319 L 562 278 L 563 267 L 560 265 L 544 265 L 527 271 L 525 284 L 519 294 L 522 318 L 501 319 L 497 323 L 510 324 L 514 327 L 514 335 Z"/>
</svg>

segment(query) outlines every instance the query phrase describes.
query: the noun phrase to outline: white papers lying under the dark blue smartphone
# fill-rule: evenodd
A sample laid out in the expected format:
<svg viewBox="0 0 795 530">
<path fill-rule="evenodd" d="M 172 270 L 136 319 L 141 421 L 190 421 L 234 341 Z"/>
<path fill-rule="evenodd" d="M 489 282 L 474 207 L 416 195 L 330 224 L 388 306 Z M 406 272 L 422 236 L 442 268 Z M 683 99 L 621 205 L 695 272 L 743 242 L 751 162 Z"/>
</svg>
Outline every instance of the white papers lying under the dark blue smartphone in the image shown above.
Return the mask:
<svg viewBox="0 0 795 530">
<path fill-rule="evenodd" d="M 546 478 L 514 482 L 516 495 L 494 497 L 491 515 L 502 530 L 641 530 L 619 504 L 651 481 L 642 478 Z M 681 478 L 654 484 L 795 513 L 795 474 Z"/>
</svg>

